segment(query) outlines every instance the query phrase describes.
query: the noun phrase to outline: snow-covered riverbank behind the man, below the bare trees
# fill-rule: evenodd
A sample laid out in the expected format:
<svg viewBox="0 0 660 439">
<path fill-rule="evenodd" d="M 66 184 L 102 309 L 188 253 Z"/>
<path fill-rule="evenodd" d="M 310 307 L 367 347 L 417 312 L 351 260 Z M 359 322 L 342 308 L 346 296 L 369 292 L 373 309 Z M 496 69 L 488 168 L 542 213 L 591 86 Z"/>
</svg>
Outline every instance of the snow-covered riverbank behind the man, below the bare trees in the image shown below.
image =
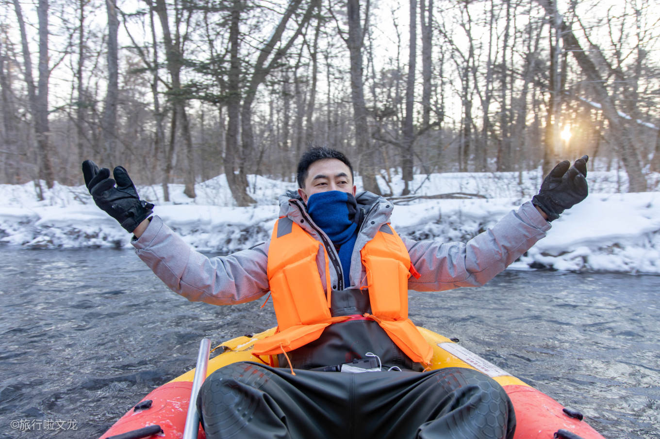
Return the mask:
<svg viewBox="0 0 660 439">
<path fill-rule="evenodd" d="M 541 185 L 539 171 L 525 173 L 444 173 L 417 175 L 411 185 L 418 195 L 448 192 L 486 198 L 434 200 L 399 204 L 392 223 L 399 233 L 416 239 L 467 241 L 493 225 L 506 212 L 533 196 Z M 620 193 L 624 175 L 590 172 L 587 200 L 553 221 L 539 241 L 512 268 L 550 267 L 660 274 L 660 192 Z M 653 186 L 658 176 L 649 177 Z M 170 185 L 172 201 L 162 202 L 158 185 L 138 187 L 154 212 L 198 250 L 231 252 L 268 239 L 277 218 L 277 197 L 295 183 L 249 176 L 257 205 L 234 206 L 224 175 L 199 183 L 197 198 Z M 360 179 L 356 179 L 360 190 Z M 400 193 L 403 182 L 393 176 L 383 190 Z M 55 185 L 46 200 L 36 201 L 34 185 L 0 185 L 0 243 L 26 249 L 118 247 L 130 249 L 129 234 L 99 210 L 84 185 Z"/>
</svg>

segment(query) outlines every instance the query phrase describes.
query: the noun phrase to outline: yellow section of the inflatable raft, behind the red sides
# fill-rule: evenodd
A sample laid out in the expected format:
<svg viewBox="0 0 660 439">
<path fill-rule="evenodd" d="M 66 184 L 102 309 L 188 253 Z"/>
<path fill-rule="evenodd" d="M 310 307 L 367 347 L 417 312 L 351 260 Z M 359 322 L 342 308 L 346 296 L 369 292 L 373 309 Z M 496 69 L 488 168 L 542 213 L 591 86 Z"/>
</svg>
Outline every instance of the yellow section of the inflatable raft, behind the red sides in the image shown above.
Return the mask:
<svg viewBox="0 0 660 439">
<path fill-rule="evenodd" d="M 467 349 L 460 347 L 457 343 L 451 341 L 447 337 L 436 334 L 425 328 L 417 327 L 418 330 L 422 333 L 422 336 L 428 341 L 433 347 L 433 358 L 431 359 L 431 369 L 440 369 L 444 367 L 466 367 L 480 372 L 489 374 L 494 380 L 500 383 L 501 386 L 508 386 L 510 384 L 516 384 L 519 386 L 528 386 L 529 384 L 515 378 L 505 372 L 504 370 L 498 368 L 497 366 L 488 363 L 488 361 L 482 359 L 478 355 L 467 351 Z M 255 334 L 251 337 L 241 336 L 234 339 L 224 341 L 214 350 L 220 350 L 222 353 L 216 355 L 209 360 L 209 366 L 207 367 L 207 376 L 221 368 L 222 366 L 229 365 L 231 363 L 237 363 L 238 361 L 256 361 L 259 359 L 252 355 L 252 347 L 255 341 L 271 336 L 275 334 L 275 328 L 271 328 L 259 334 Z M 459 356 L 461 358 L 459 358 Z M 268 363 L 268 357 L 261 357 L 264 363 Z M 180 381 L 192 381 L 195 374 L 195 369 L 189 370 L 174 378 L 170 382 L 180 382 Z"/>
</svg>

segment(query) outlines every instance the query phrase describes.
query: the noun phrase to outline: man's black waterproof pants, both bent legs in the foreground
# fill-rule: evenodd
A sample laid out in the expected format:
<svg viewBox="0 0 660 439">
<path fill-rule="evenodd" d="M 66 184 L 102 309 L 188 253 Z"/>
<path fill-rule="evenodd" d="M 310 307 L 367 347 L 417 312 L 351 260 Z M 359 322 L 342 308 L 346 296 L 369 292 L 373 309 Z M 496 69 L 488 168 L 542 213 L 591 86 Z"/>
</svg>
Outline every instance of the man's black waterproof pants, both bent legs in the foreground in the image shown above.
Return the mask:
<svg viewBox="0 0 660 439">
<path fill-rule="evenodd" d="M 234 363 L 197 399 L 207 438 L 512 439 L 513 406 L 467 368 L 317 372 Z"/>
</svg>

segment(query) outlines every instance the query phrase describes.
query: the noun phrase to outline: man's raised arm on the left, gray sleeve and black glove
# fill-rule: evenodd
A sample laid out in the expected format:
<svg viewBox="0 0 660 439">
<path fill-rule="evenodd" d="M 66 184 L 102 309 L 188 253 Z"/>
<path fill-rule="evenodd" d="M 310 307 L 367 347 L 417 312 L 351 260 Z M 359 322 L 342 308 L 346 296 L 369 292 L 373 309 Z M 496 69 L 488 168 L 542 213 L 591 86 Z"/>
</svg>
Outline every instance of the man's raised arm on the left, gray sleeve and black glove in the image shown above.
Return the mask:
<svg viewBox="0 0 660 439">
<path fill-rule="evenodd" d="M 85 184 L 96 205 L 134 236 L 137 255 L 172 291 L 190 301 L 214 305 L 244 303 L 269 291 L 268 245 L 262 243 L 228 256 L 207 258 L 196 252 L 140 200 L 126 169 L 110 169 L 91 160 L 82 163 Z"/>
</svg>

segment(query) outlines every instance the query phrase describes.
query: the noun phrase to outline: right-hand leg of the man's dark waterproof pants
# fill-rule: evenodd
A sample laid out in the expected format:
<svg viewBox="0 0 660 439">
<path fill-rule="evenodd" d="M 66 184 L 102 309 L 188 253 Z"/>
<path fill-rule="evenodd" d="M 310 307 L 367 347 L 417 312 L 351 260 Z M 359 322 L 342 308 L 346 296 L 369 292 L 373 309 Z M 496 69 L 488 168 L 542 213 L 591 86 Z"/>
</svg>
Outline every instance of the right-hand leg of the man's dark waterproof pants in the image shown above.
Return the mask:
<svg viewBox="0 0 660 439">
<path fill-rule="evenodd" d="M 496 381 L 468 368 L 354 374 L 354 438 L 512 439 L 513 405 Z"/>
</svg>

